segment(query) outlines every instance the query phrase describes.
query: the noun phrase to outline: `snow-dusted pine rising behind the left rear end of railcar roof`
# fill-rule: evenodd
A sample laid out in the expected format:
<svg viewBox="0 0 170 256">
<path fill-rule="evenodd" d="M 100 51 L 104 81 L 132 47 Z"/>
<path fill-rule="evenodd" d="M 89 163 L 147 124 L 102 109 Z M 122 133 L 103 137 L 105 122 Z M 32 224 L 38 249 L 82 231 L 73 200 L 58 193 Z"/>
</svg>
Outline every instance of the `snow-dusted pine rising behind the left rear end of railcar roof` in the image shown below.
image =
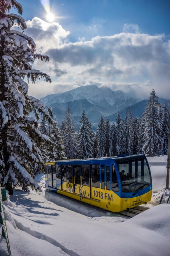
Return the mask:
<svg viewBox="0 0 170 256">
<path fill-rule="evenodd" d="M 64 146 L 62 136 L 58 127 L 56 116 L 52 122 L 50 140 L 54 143 L 49 143 L 47 150 L 47 161 L 56 161 L 65 159 Z"/>
</svg>

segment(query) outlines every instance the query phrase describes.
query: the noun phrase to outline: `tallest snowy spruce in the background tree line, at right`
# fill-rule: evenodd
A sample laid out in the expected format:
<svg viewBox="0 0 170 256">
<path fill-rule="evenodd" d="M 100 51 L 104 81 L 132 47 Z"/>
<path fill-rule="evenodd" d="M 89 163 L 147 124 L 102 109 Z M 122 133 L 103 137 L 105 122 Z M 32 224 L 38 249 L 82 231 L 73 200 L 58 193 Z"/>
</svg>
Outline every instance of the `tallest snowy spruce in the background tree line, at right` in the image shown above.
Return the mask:
<svg viewBox="0 0 170 256">
<path fill-rule="evenodd" d="M 152 90 L 145 110 L 145 130 L 143 134 L 144 145 L 142 152 L 146 156 L 156 156 L 163 154 L 162 139 L 160 135 L 160 121 L 158 111 L 154 107 L 154 103 L 158 101 L 158 97 Z"/>
</svg>

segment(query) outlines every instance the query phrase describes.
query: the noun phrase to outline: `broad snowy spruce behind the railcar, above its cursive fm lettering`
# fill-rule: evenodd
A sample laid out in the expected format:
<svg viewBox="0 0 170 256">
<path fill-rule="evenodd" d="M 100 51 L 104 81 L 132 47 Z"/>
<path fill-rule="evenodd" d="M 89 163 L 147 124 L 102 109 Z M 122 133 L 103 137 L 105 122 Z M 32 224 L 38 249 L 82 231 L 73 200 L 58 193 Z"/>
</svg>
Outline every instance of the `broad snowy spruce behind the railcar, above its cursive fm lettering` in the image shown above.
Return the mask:
<svg viewBox="0 0 170 256">
<path fill-rule="evenodd" d="M 83 110 L 81 120 L 81 126 L 78 131 L 78 155 L 80 158 L 92 158 L 94 142 L 92 138 L 92 125 L 86 117 L 85 111 Z"/>
</svg>

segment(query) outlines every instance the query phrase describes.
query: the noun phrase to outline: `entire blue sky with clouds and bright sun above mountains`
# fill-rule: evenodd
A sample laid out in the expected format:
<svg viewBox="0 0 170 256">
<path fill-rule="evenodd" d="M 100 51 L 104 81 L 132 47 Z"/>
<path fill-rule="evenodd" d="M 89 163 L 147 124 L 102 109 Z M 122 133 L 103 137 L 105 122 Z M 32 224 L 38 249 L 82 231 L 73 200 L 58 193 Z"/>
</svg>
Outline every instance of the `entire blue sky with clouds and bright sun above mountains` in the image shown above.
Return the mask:
<svg viewBox="0 0 170 256">
<path fill-rule="evenodd" d="M 170 99 L 169 0 L 18 0 L 25 33 L 48 64 L 34 68 L 52 83 L 29 85 L 43 96 L 83 85 L 108 86 L 147 99 Z M 48 14 L 48 15 L 47 15 Z"/>
</svg>

